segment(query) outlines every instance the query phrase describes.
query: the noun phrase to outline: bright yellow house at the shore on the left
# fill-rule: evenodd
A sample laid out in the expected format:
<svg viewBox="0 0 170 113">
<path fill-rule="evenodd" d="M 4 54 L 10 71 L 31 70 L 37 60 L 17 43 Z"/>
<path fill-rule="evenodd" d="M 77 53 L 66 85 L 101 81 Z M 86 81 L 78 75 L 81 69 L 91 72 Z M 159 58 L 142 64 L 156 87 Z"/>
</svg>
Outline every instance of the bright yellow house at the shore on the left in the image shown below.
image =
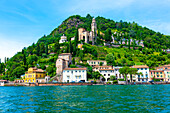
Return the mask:
<svg viewBox="0 0 170 113">
<path fill-rule="evenodd" d="M 46 72 L 42 69 L 29 68 L 25 73 L 24 82 L 26 83 L 36 83 L 39 81 L 44 81 Z"/>
</svg>

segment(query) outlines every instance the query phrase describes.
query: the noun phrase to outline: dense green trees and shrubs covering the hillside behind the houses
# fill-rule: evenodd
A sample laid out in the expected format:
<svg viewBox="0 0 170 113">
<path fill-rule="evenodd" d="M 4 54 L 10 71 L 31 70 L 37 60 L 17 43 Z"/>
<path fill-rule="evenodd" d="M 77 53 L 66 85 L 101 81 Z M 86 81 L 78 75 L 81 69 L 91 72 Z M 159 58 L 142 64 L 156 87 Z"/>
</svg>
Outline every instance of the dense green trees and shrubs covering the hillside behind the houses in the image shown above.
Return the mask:
<svg viewBox="0 0 170 113">
<path fill-rule="evenodd" d="M 170 47 L 170 36 L 163 35 L 149 28 L 139 26 L 133 22 L 115 22 L 104 17 L 96 17 L 97 23 L 97 43 L 95 45 L 84 44 L 83 50 L 77 48 L 78 28 L 85 28 L 91 31 L 92 16 L 81 17 L 79 15 L 70 16 L 63 23 L 54 29 L 49 35 L 42 36 L 37 43 L 29 47 L 24 47 L 21 52 L 15 54 L 4 63 L 0 62 L 0 79 L 14 80 L 20 78 L 29 67 L 37 66 L 47 71 L 50 76 L 56 75 L 55 62 L 60 53 L 72 53 L 73 63 L 70 67 L 82 65 L 88 67 L 88 77 L 93 78 L 96 73 L 92 72 L 92 67 L 86 64 L 87 60 L 106 60 L 108 65 L 132 66 L 146 64 L 150 68 L 170 63 L 170 54 L 162 51 Z M 60 37 L 65 34 L 68 42 L 59 44 Z M 144 48 L 137 45 L 127 45 L 129 48 L 107 47 L 104 41 L 110 42 L 111 35 L 116 37 L 116 42 L 122 39 L 136 39 L 144 41 Z M 75 37 L 74 41 L 71 38 Z M 133 47 L 133 49 L 130 49 Z M 82 61 L 82 63 L 80 63 Z M 5 71 L 6 70 L 6 71 Z"/>
</svg>

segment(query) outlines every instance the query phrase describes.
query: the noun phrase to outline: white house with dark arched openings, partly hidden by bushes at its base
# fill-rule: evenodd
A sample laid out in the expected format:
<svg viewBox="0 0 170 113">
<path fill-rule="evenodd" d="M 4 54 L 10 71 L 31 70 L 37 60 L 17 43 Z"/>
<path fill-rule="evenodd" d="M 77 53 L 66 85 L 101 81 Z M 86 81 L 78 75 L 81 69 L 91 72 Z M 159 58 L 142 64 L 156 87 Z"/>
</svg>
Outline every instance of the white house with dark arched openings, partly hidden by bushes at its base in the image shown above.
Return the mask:
<svg viewBox="0 0 170 113">
<path fill-rule="evenodd" d="M 107 82 L 111 75 L 114 75 L 114 69 L 99 69 L 100 74 L 102 74 Z"/>
</svg>

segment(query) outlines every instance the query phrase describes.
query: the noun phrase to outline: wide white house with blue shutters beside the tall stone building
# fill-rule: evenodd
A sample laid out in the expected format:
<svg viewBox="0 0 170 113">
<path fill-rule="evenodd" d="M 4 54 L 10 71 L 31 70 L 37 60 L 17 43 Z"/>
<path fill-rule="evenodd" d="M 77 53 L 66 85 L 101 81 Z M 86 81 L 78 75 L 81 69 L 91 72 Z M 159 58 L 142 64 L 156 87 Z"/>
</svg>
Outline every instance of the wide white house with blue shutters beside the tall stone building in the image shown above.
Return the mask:
<svg viewBox="0 0 170 113">
<path fill-rule="evenodd" d="M 86 68 L 65 68 L 63 70 L 63 82 L 87 82 Z"/>
</svg>

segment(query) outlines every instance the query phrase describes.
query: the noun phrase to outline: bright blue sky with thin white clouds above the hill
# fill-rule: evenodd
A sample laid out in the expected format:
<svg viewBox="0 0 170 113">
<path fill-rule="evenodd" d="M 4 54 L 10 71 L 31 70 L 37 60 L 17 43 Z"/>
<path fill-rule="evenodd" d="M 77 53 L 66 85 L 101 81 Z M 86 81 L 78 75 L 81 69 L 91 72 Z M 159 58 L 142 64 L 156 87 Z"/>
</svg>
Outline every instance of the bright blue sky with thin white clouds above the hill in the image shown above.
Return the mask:
<svg viewBox="0 0 170 113">
<path fill-rule="evenodd" d="M 72 15 L 135 21 L 170 35 L 170 0 L 0 0 L 0 58 L 36 43 Z"/>
</svg>

